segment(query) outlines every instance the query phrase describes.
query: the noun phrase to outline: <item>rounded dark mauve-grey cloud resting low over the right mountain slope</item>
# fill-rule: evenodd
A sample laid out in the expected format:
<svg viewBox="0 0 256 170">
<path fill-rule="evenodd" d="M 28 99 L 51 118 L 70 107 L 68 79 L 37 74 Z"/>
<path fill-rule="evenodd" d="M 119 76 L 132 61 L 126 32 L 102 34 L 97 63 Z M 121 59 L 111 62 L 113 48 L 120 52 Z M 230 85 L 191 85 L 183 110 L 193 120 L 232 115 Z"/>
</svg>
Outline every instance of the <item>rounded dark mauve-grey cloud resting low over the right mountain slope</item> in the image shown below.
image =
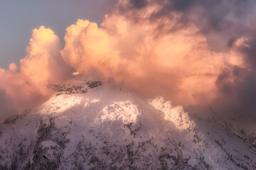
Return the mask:
<svg viewBox="0 0 256 170">
<path fill-rule="evenodd" d="M 256 115 L 255 72 L 236 67 L 226 69 L 218 77 L 216 86 L 218 87 L 218 97 L 215 98 L 213 107 L 220 113 Z"/>
</svg>

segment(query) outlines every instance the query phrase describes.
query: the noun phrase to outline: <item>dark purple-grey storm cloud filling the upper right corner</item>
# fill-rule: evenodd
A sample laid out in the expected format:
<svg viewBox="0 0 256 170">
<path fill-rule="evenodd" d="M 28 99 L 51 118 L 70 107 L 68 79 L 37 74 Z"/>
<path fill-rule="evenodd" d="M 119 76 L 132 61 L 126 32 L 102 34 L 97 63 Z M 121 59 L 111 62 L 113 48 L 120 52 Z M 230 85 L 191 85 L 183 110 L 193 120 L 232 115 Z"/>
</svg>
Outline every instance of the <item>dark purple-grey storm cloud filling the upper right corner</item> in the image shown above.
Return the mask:
<svg viewBox="0 0 256 170">
<path fill-rule="evenodd" d="M 119 6 L 119 11 L 136 20 L 137 10 L 151 4 L 160 5 L 159 11 L 150 16 L 154 22 L 158 18 L 172 17 L 171 12 L 183 13 L 180 23 L 195 23 L 206 35 L 210 50 L 226 51 L 241 35 L 250 31 L 248 23 L 255 21 L 252 16 L 256 1 L 247 0 L 130 0 L 125 6 Z"/>
</svg>

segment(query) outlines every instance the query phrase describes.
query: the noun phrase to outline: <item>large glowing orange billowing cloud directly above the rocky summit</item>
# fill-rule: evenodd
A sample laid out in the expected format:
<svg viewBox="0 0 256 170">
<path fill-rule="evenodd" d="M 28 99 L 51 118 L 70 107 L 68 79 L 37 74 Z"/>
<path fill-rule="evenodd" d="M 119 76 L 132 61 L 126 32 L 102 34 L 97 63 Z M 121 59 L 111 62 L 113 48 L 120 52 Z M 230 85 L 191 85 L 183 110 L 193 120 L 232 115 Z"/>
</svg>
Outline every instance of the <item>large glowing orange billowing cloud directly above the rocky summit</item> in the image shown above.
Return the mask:
<svg viewBox="0 0 256 170">
<path fill-rule="evenodd" d="M 180 13 L 149 22 L 146 17 L 154 10 L 143 11 L 139 22 L 115 14 L 106 16 L 101 27 L 79 20 L 67 28 L 63 60 L 82 74 L 114 77 L 146 97 L 161 95 L 183 105 L 210 103 L 218 75 L 230 65 L 242 67 L 241 56 L 208 50 L 206 37 L 193 23 L 173 29 Z M 166 32 L 159 33 L 160 24 Z"/>
</svg>

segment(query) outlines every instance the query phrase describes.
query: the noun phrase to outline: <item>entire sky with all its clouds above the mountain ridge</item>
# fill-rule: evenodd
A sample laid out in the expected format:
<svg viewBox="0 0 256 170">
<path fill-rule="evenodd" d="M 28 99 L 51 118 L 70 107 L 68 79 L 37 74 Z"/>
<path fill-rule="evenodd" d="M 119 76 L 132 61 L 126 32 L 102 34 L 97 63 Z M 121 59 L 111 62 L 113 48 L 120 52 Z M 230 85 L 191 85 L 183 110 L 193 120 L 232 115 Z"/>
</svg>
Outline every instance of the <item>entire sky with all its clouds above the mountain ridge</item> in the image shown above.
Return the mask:
<svg viewBox="0 0 256 170">
<path fill-rule="evenodd" d="M 256 1 L 1 1 L 0 117 L 93 74 L 193 113 L 256 117 Z M 111 80 L 111 81 L 110 81 Z"/>
</svg>

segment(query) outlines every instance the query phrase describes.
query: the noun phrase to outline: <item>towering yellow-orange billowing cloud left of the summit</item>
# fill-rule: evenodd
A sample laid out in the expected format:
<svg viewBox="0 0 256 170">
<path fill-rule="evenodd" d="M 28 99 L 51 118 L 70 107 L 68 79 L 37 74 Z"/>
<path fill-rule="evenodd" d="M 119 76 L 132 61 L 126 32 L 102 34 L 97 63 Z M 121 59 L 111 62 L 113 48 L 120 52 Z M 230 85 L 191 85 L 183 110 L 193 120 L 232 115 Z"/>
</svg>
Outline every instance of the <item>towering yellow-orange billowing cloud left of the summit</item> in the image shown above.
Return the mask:
<svg viewBox="0 0 256 170">
<path fill-rule="evenodd" d="M 37 106 L 70 77 L 72 69 L 63 62 L 60 48 L 53 30 L 41 26 L 33 30 L 20 66 L 11 63 L 9 69 L 0 69 L 0 89 L 16 111 Z"/>
</svg>

